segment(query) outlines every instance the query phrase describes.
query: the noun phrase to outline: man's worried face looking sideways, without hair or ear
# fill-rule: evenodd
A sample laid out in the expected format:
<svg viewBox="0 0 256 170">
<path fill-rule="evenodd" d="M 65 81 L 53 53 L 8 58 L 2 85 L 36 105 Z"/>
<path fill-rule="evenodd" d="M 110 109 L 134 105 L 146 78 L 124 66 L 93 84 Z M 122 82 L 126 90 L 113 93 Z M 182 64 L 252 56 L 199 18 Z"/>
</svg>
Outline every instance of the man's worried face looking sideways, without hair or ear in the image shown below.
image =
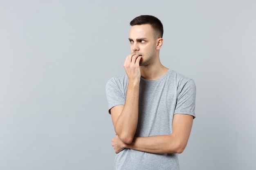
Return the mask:
<svg viewBox="0 0 256 170">
<path fill-rule="evenodd" d="M 129 34 L 131 53 L 141 55 L 140 66 L 153 64 L 156 58 L 157 40 L 150 24 L 134 25 Z"/>
</svg>

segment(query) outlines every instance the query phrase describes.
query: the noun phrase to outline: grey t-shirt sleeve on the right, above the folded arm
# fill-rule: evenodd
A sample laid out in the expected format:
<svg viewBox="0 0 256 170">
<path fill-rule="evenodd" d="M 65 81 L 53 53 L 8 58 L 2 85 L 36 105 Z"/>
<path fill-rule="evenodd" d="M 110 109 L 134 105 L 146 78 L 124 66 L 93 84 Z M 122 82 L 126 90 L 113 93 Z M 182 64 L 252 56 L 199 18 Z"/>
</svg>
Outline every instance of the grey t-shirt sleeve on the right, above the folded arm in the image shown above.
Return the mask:
<svg viewBox="0 0 256 170">
<path fill-rule="evenodd" d="M 195 118 L 196 86 L 193 79 L 178 87 L 177 103 L 174 114 L 187 114 Z"/>
</svg>

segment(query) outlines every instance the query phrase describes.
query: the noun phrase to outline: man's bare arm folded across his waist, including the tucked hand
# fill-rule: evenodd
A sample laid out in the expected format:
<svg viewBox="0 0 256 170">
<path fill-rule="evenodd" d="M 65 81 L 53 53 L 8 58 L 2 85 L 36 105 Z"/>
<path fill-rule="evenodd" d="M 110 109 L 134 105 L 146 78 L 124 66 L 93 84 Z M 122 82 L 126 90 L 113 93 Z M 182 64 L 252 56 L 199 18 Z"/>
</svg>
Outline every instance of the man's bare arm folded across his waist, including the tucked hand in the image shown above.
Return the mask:
<svg viewBox="0 0 256 170">
<path fill-rule="evenodd" d="M 182 153 L 186 148 L 193 124 L 193 116 L 175 114 L 173 117 L 173 133 L 150 137 L 134 137 L 132 143 L 125 144 L 117 135 L 112 139 L 112 146 L 116 153 L 124 148 L 150 153 Z"/>
</svg>

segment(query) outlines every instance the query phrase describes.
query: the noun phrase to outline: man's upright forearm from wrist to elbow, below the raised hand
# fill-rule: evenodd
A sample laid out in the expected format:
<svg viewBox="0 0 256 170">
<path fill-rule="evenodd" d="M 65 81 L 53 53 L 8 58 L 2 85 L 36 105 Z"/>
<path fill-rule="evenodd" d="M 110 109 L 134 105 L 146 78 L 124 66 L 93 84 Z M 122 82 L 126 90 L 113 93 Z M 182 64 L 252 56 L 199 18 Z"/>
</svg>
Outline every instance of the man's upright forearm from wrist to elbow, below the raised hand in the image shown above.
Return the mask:
<svg viewBox="0 0 256 170">
<path fill-rule="evenodd" d="M 120 139 L 130 144 L 138 124 L 139 83 L 130 82 L 124 108 L 115 123 L 115 132 Z"/>
</svg>

